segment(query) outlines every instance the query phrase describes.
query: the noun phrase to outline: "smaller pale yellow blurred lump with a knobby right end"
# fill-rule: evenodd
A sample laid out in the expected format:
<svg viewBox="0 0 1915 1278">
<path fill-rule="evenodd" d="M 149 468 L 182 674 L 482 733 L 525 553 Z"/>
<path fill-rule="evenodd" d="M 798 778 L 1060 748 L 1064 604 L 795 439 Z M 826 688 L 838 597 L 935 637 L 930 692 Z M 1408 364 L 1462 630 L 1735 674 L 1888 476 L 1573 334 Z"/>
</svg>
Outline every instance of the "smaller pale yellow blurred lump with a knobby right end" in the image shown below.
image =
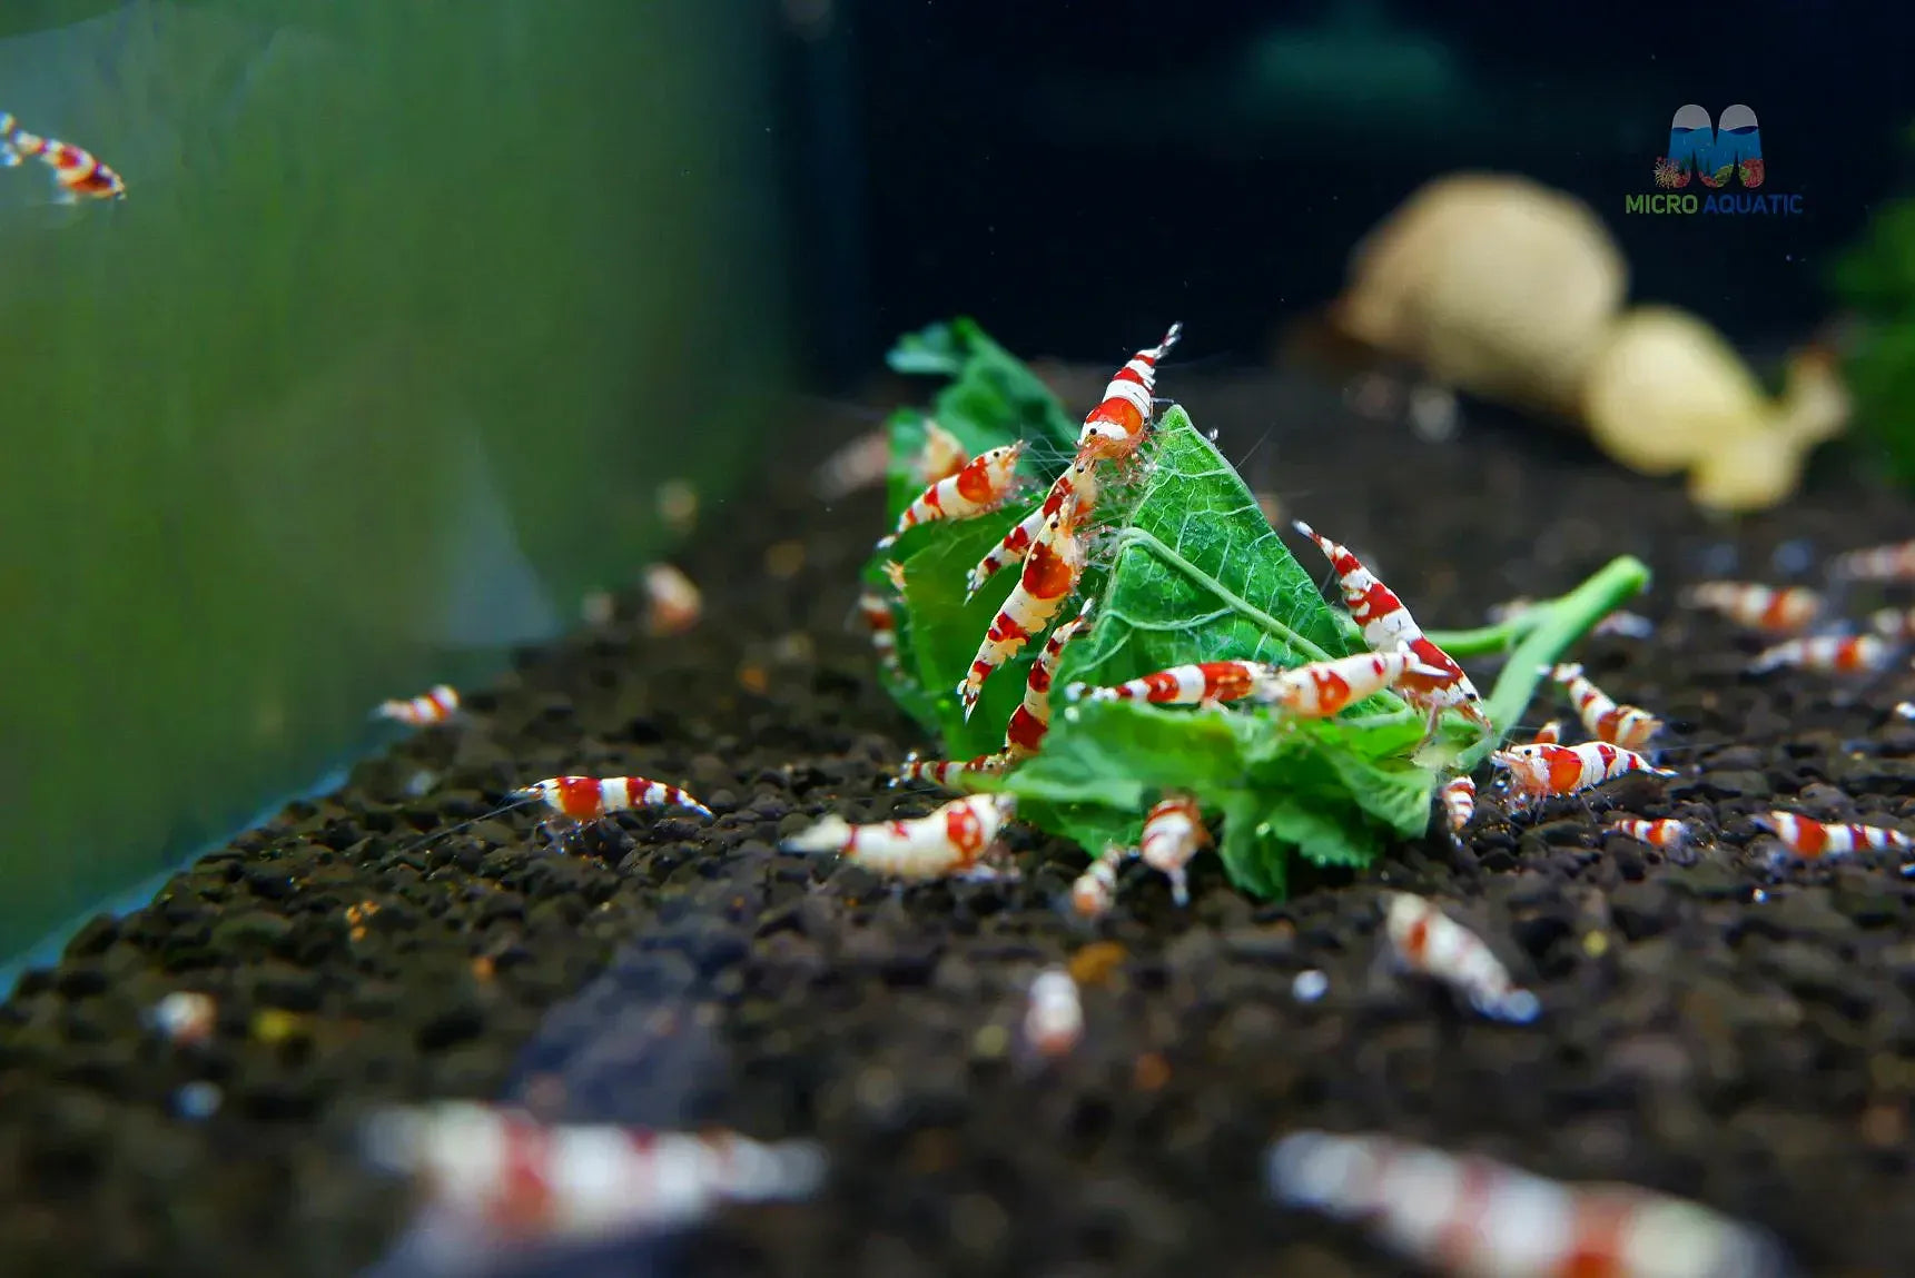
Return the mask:
<svg viewBox="0 0 1915 1278">
<path fill-rule="evenodd" d="M 1689 471 L 1689 496 L 1756 511 L 1794 492 L 1810 448 L 1848 421 L 1833 362 L 1798 352 L 1779 400 L 1702 320 L 1639 306 L 1611 329 L 1588 369 L 1582 417 L 1603 452 L 1643 474 Z"/>
</svg>

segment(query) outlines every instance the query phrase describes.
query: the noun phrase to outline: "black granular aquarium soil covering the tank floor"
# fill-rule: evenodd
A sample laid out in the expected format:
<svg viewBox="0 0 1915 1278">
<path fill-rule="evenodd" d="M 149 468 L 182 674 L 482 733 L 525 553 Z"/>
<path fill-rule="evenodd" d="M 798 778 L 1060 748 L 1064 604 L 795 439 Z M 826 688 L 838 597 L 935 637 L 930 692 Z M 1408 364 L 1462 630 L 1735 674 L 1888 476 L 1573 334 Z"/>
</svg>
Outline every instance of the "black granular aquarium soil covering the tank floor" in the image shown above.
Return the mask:
<svg viewBox="0 0 1915 1278">
<path fill-rule="evenodd" d="M 1203 857 L 1189 909 L 1132 878 L 1088 930 L 1055 905 L 1082 853 L 1032 832 L 1013 836 L 1015 884 L 898 892 L 781 855 L 823 809 L 938 802 L 885 786 L 923 742 L 846 624 L 877 497 L 823 511 L 787 478 L 707 515 L 682 559 L 697 633 L 651 639 L 626 603 L 473 694 L 467 723 L 360 765 L 27 976 L 0 1006 L 0 1268 L 354 1272 L 406 1209 L 356 1161 L 356 1115 L 471 1096 L 831 1156 L 812 1203 L 563 1272 L 1402 1272 L 1264 1200 L 1260 1156 L 1295 1127 L 1633 1180 L 1769 1224 L 1810 1272 L 1915 1272 L 1915 884 L 1894 861 L 1775 876 L 1748 848 L 1771 802 L 1915 815 L 1915 729 L 1888 714 L 1915 679 L 1756 679 L 1754 639 L 1672 606 L 1683 582 L 1781 582 L 1905 538 L 1909 507 L 1827 473 L 1789 511 L 1712 526 L 1566 436 L 1471 421 L 1425 444 L 1272 379 L 1174 381 L 1285 518 L 1371 555 L 1427 626 L 1649 561 L 1656 637 L 1582 658 L 1672 719 L 1683 777 L 1612 798 L 1699 823 L 1701 857 L 1664 863 L 1580 805 L 1511 828 L 1486 800 L 1461 853 L 1432 836 L 1354 880 L 1302 874 L 1287 903 Z M 555 773 L 684 781 L 718 817 L 628 815 L 553 853 L 509 813 L 410 848 Z M 1476 924 L 1542 1020 L 1471 1020 L 1377 978 L 1379 884 Z M 1036 1069 L 1017 1025 L 1055 960 L 1084 976 L 1088 1033 Z M 1308 968 L 1329 991 L 1304 1004 Z M 142 1027 L 174 989 L 218 999 L 205 1047 Z M 211 1113 L 182 1108 L 193 1083 L 218 1089 Z"/>
</svg>

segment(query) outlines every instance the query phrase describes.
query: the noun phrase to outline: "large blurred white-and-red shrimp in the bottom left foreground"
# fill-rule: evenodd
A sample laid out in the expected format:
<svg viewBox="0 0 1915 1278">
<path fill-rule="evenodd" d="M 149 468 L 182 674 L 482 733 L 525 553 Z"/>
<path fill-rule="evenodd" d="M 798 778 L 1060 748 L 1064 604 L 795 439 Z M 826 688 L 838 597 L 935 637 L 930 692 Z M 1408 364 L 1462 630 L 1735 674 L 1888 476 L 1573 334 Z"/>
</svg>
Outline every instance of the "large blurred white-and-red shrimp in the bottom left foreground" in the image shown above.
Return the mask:
<svg viewBox="0 0 1915 1278">
<path fill-rule="evenodd" d="M 431 1242 L 462 1249 L 473 1270 L 500 1244 L 611 1240 L 691 1224 L 724 1201 L 808 1198 L 825 1173 L 808 1140 L 546 1125 L 473 1102 L 379 1110 L 362 1148 L 373 1165 L 423 1180 Z"/>
</svg>

